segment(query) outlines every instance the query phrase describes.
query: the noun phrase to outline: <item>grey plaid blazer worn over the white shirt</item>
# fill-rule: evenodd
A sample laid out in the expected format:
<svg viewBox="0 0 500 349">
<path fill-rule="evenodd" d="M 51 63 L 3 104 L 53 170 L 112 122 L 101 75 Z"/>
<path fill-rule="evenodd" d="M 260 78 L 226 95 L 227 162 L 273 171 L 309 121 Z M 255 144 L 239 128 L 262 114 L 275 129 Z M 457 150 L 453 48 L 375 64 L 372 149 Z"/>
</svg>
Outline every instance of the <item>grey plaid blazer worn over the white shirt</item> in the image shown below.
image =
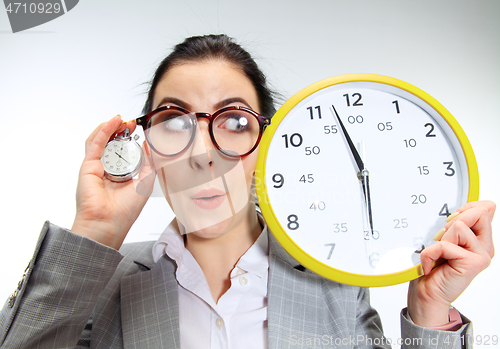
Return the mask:
<svg viewBox="0 0 500 349">
<path fill-rule="evenodd" d="M 154 263 L 153 243 L 118 253 L 46 222 L 0 313 L 0 347 L 179 348 L 175 263 Z M 296 268 L 271 234 L 269 251 L 269 348 L 390 347 L 367 289 Z M 458 349 L 472 336 L 470 324 L 455 333 L 401 319 L 403 348 Z"/>
</svg>

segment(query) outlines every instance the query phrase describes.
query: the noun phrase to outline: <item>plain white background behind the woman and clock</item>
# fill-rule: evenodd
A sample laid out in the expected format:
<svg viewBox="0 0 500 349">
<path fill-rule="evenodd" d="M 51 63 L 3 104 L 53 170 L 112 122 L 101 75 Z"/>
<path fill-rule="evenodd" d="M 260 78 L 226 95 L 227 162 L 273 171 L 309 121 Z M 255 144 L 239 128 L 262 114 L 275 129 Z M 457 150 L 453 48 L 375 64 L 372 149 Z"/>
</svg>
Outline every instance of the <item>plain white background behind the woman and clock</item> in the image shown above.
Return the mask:
<svg viewBox="0 0 500 349">
<path fill-rule="evenodd" d="M 346 73 L 388 75 L 423 89 L 467 133 L 480 198 L 500 202 L 499 18 L 497 0 L 85 0 L 12 34 L 0 9 L 0 298 L 16 287 L 43 222 L 71 227 L 87 136 L 116 114 L 139 116 L 143 83 L 191 35 L 235 37 L 285 98 Z M 150 199 L 128 241 L 156 239 L 171 218 L 164 199 Z M 500 335 L 498 276 L 493 260 L 455 303 L 473 319 L 478 339 Z M 392 339 L 400 336 L 406 288 L 372 291 Z"/>
</svg>

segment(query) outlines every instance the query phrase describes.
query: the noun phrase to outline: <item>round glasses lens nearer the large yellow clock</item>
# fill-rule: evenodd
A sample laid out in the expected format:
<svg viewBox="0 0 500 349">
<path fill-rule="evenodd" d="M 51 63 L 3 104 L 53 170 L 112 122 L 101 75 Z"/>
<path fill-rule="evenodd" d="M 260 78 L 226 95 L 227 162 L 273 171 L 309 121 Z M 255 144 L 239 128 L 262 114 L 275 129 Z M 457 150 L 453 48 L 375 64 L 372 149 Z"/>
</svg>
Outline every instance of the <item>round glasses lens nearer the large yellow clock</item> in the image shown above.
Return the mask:
<svg viewBox="0 0 500 349">
<path fill-rule="evenodd" d="M 228 110 L 214 119 L 212 131 L 224 153 L 244 155 L 259 139 L 259 120 L 244 110 Z"/>
</svg>

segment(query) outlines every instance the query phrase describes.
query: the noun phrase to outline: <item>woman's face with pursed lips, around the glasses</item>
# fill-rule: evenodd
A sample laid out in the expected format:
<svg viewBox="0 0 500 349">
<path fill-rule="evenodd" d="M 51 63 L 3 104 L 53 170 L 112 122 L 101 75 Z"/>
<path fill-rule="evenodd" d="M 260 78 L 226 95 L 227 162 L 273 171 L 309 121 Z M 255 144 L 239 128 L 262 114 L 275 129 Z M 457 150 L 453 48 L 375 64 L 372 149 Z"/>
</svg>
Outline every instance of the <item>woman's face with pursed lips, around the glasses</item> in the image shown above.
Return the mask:
<svg viewBox="0 0 500 349">
<path fill-rule="evenodd" d="M 183 107 L 213 114 L 226 106 L 259 112 L 251 81 L 226 61 L 189 62 L 172 67 L 156 87 L 153 107 Z M 251 200 L 258 149 L 242 158 L 216 150 L 209 121 L 198 119 L 195 138 L 181 154 L 166 158 L 150 151 L 163 193 L 186 233 L 214 238 L 244 228 L 255 215 Z M 252 202 L 249 204 L 249 202 Z"/>
</svg>

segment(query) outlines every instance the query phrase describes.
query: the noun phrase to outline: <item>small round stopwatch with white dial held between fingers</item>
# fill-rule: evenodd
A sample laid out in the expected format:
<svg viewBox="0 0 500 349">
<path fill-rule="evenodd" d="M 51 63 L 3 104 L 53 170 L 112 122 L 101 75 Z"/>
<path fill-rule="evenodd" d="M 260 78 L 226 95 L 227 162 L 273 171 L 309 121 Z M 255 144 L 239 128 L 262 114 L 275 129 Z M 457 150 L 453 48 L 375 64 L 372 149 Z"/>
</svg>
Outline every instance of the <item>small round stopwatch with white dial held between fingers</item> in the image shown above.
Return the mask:
<svg viewBox="0 0 500 349">
<path fill-rule="evenodd" d="M 113 140 L 101 157 L 104 170 L 113 176 L 126 176 L 136 172 L 141 164 L 139 145 L 130 140 Z"/>
</svg>

